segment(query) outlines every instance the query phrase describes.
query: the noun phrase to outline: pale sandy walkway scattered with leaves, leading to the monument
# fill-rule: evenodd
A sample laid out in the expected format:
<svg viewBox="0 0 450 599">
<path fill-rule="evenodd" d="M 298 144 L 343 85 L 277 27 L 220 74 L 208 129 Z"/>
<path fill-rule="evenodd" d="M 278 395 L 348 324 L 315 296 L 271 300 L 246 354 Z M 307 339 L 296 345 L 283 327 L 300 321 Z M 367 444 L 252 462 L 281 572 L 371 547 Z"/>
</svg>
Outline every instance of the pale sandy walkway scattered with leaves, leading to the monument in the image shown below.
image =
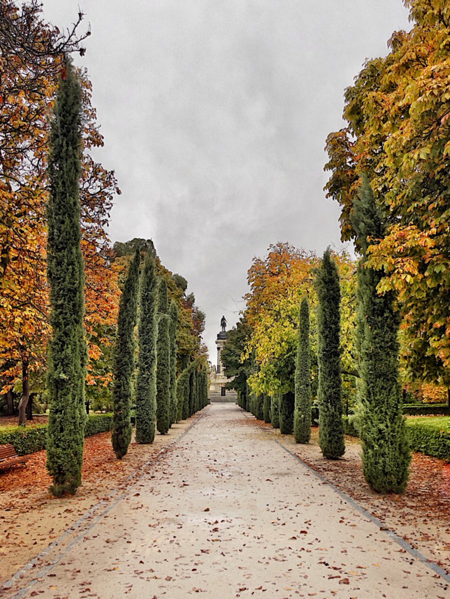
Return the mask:
<svg viewBox="0 0 450 599">
<path fill-rule="evenodd" d="M 2 597 L 449 596 L 448 582 L 232 404 L 213 405 L 22 576 Z"/>
</svg>

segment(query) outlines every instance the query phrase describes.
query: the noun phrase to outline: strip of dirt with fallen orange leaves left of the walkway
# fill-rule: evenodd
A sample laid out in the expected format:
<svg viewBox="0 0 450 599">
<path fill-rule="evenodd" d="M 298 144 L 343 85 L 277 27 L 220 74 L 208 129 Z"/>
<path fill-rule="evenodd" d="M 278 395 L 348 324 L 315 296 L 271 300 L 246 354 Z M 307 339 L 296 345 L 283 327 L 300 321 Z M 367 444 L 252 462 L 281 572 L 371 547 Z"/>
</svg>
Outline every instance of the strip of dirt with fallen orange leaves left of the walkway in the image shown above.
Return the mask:
<svg viewBox="0 0 450 599">
<path fill-rule="evenodd" d="M 0 583 L 58 539 L 81 516 L 117 489 L 125 489 L 139 476 L 147 462 L 152 463 L 165 447 L 176 440 L 203 413 L 174 424 L 167 435 L 157 434 L 152 445 L 139 445 L 133 439 L 128 453 L 118 460 L 111 446 L 111 433 L 84 440 L 83 484 L 73 496 L 55 498 L 46 469 L 46 452 L 32 454 L 26 465 L 0 471 Z M 47 422 L 36 418 L 35 423 Z M 2 419 L 16 424 L 17 419 Z"/>
</svg>

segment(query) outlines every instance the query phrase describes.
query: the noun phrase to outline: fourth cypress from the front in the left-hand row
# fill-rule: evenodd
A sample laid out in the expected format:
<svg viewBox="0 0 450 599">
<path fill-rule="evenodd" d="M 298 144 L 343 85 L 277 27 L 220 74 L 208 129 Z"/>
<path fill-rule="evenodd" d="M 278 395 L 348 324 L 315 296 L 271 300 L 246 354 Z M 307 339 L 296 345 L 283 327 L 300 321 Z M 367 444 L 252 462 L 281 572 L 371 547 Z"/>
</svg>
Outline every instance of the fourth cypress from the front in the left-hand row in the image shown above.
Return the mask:
<svg viewBox="0 0 450 599">
<path fill-rule="evenodd" d="M 158 286 L 158 337 L 156 340 L 156 428 L 165 435 L 170 425 L 170 334 L 167 283 Z"/>
</svg>

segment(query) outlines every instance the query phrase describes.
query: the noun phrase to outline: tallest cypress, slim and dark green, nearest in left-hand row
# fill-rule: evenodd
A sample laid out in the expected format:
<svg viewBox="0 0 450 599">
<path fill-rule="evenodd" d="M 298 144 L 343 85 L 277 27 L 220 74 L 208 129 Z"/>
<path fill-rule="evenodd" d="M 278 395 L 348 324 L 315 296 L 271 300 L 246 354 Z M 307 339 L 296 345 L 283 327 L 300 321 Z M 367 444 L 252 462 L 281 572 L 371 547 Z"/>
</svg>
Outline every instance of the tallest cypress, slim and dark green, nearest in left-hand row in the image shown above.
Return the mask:
<svg viewBox="0 0 450 599">
<path fill-rule="evenodd" d="M 56 497 L 74 494 L 81 484 L 83 464 L 84 379 L 84 265 L 81 255 L 81 87 L 70 62 L 59 81 L 50 131 L 47 204 L 49 228 L 47 277 L 50 285 L 47 429 L 47 470 Z"/>
</svg>

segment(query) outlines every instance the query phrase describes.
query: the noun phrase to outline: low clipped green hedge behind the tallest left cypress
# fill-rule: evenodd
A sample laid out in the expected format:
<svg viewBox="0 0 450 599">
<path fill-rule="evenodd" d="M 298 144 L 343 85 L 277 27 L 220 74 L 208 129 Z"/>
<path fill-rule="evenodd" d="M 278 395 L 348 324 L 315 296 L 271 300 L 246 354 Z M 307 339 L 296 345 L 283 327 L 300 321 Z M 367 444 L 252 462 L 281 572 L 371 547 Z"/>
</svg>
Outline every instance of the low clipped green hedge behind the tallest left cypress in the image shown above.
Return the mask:
<svg viewBox="0 0 450 599">
<path fill-rule="evenodd" d="M 84 429 L 84 437 L 110 431 L 112 425 L 112 414 L 90 414 Z M 46 441 L 46 424 L 37 424 L 28 428 L 11 426 L 11 428 L 0 430 L 0 445 L 11 443 L 14 445 L 17 455 L 27 455 L 46 449 Z"/>
</svg>

